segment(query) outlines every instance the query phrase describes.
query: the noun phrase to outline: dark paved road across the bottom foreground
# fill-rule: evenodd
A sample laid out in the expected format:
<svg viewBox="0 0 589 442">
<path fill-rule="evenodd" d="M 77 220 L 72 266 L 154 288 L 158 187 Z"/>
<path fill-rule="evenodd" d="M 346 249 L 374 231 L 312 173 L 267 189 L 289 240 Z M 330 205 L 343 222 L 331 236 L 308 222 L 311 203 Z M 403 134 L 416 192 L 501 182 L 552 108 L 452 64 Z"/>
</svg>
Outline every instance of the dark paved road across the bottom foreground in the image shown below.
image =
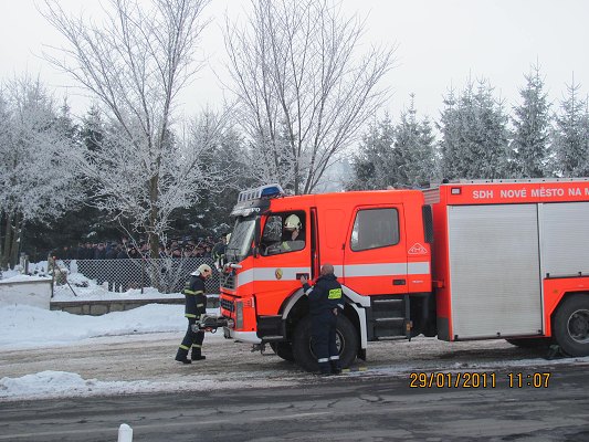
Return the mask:
<svg viewBox="0 0 589 442">
<path fill-rule="evenodd" d="M 410 388 L 410 376 L 368 370 L 239 396 L 215 390 L 2 402 L 0 441 L 116 441 L 120 423 L 134 429 L 136 442 L 588 441 L 587 366 L 551 369 L 547 385 L 544 375 L 529 378 L 539 388 L 527 385 L 529 367 L 522 369 L 522 388 L 518 378 L 509 387 L 507 371 L 487 372 L 486 388 L 464 388 L 466 379 L 455 376 L 453 387 L 434 387 L 448 385 L 449 375 L 433 378 L 431 388 Z M 429 383 L 425 375 L 421 381 Z"/>
</svg>

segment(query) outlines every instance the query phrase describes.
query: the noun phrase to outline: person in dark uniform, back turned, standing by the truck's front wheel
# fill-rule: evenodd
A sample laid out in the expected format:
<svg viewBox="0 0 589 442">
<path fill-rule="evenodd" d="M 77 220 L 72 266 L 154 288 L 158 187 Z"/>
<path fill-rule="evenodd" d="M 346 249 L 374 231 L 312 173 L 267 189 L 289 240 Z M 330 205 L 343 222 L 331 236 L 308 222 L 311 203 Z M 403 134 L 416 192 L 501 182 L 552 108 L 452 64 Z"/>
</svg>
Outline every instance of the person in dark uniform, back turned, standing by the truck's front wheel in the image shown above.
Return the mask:
<svg viewBox="0 0 589 442">
<path fill-rule="evenodd" d="M 312 318 L 312 343 L 322 375 L 339 375 L 339 354 L 336 345 L 337 315 L 344 309 L 341 285 L 334 275 L 334 266 L 324 264 L 320 276 L 312 287 L 305 276 L 301 277 L 308 296 Z"/>
</svg>

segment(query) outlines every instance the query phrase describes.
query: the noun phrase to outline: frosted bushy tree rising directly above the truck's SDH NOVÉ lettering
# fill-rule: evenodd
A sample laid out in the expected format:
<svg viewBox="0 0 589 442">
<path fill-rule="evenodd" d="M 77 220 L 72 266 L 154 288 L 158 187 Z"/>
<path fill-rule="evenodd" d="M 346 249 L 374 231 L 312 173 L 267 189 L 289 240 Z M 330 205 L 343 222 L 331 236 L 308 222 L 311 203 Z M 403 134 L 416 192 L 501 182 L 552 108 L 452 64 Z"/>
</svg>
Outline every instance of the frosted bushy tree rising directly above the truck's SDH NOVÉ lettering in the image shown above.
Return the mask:
<svg viewBox="0 0 589 442">
<path fill-rule="evenodd" d="M 486 81 L 455 97 L 450 91 L 440 119 L 442 176 L 448 179 L 503 178 L 507 173 L 507 114 Z"/>
</svg>

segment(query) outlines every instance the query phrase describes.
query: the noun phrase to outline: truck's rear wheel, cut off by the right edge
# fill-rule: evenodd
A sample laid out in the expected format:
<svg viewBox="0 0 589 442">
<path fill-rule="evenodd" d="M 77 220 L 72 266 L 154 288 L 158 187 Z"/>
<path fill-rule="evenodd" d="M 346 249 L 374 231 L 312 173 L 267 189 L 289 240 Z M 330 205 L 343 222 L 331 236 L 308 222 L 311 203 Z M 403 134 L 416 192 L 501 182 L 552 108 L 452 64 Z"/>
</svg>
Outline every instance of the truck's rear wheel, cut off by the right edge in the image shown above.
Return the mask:
<svg viewBox="0 0 589 442">
<path fill-rule="evenodd" d="M 569 356 L 589 356 L 589 295 L 566 298 L 554 317 L 554 337 Z"/>
</svg>

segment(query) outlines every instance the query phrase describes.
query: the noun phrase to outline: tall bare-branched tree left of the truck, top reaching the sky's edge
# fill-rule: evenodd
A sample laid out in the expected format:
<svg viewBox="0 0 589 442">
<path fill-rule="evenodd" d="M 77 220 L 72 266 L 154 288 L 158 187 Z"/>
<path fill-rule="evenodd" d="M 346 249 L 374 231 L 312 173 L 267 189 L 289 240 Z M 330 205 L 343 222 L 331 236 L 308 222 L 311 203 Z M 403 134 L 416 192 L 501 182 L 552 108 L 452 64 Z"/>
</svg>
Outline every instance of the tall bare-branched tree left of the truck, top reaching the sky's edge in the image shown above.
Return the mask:
<svg viewBox="0 0 589 442">
<path fill-rule="evenodd" d="M 67 15 L 56 0 L 45 0 L 42 11 L 69 42 L 60 52 L 63 60 L 46 59 L 99 99 L 115 128 L 101 149 L 78 156 L 98 186 L 98 207 L 132 217 L 136 230 L 148 235 L 152 256 L 171 211 L 209 186 L 198 157 L 186 149 L 198 150 L 211 139 L 180 146 L 172 134 L 178 92 L 201 66 L 196 50 L 208 2 L 107 0 L 101 24 Z M 219 120 L 209 122 L 213 135 Z"/>
</svg>

